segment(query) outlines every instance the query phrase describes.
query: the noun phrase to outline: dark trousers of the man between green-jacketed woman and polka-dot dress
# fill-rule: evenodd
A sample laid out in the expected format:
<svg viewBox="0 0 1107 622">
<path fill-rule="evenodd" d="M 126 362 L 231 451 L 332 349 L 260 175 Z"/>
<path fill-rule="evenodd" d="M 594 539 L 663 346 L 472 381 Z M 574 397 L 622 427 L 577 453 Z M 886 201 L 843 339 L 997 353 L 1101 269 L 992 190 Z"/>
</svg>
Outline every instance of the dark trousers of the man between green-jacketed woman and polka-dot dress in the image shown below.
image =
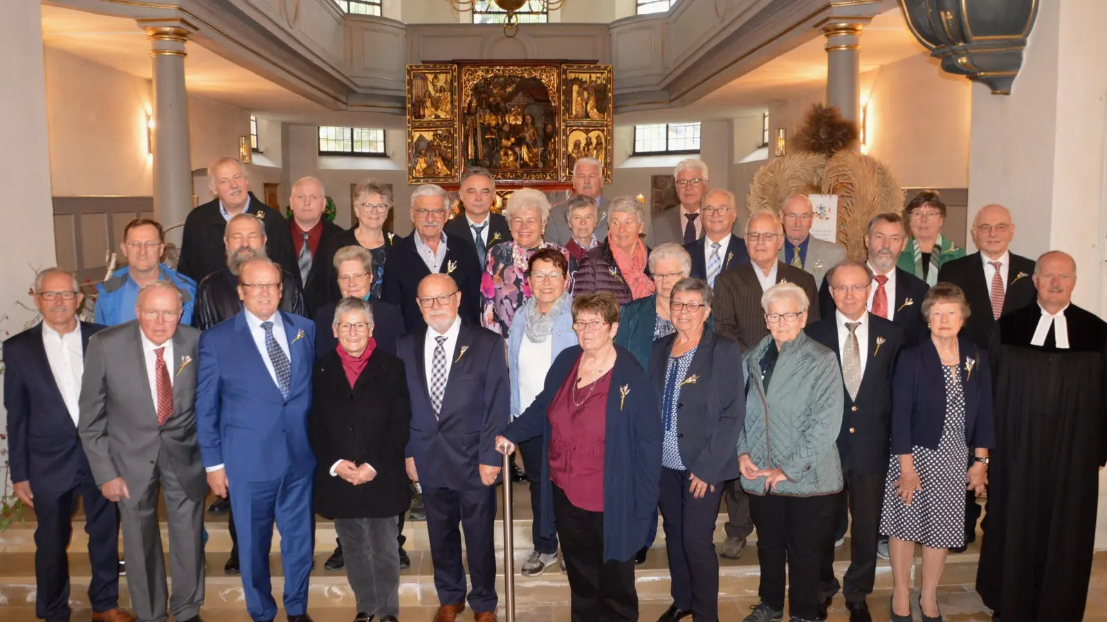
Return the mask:
<svg viewBox="0 0 1107 622">
<path fill-rule="evenodd" d="M 863 601 L 872 593 L 872 584 L 877 578 L 880 512 L 884 507 L 884 474 L 861 475 L 847 468 L 842 471 L 846 488 L 827 497 L 825 520 L 828 525 L 836 525 L 844 511 L 853 517 L 850 527 L 849 568 L 842 578 L 842 593 L 847 602 Z M 826 538 L 820 545 L 819 594 L 823 598 L 834 597 L 840 587 L 834 574 L 836 538 Z"/>
</svg>

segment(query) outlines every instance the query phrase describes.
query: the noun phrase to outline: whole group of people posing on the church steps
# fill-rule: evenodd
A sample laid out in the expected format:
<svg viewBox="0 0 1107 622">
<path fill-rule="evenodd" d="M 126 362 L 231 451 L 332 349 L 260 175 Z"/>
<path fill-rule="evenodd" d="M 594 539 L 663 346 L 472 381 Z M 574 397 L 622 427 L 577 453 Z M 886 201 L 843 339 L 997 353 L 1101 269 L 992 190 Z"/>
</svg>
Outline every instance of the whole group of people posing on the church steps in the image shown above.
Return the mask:
<svg viewBox="0 0 1107 622">
<path fill-rule="evenodd" d="M 518 189 L 503 215 L 492 175 L 472 168 L 463 214 L 420 186 L 401 237 L 375 180 L 356 188 L 346 231 L 322 218 L 318 179 L 293 185 L 286 220 L 221 158 L 177 270 L 161 262 L 161 225 L 127 225 L 127 266 L 97 286 L 96 323 L 79 321 L 71 273 L 41 271 L 42 322 L 4 342 L 39 616 L 69 619 L 81 496 L 93 619 L 134 620 L 118 608 L 122 519 L 135 616 L 198 622 L 210 490 L 230 501 L 227 570 L 252 620 L 277 614 L 276 522 L 286 613 L 310 622 L 319 515 L 334 521 L 355 622 L 395 621 L 415 484 L 435 622 L 466 607 L 495 622 L 495 486 L 509 477 L 501 454 L 518 452 L 534 511 L 521 573 L 567 573 L 573 621 L 639 620 L 634 566 L 659 515 L 673 599 L 659 622 L 718 620 L 717 557 L 739 558 L 755 531 L 747 622 L 785 609 L 825 620 L 838 591 L 851 621 L 871 620 L 883 551 L 891 618 L 910 620 L 917 545 L 918 608 L 940 620 L 945 557 L 976 538 L 985 490 L 977 590 L 994 618 L 1080 619 L 1107 462 L 1107 324 L 1070 303 L 1073 259 L 1011 253 L 1015 226 L 994 205 L 965 256 L 941 235 L 941 198 L 922 193 L 872 219 L 855 261 L 810 236 L 804 195 L 739 230 L 734 195 L 710 188 L 702 162 L 674 177 L 681 206 L 648 227 L 634 198 L 602 197 L 591 158 L 568 201 Z"/>
</svg>

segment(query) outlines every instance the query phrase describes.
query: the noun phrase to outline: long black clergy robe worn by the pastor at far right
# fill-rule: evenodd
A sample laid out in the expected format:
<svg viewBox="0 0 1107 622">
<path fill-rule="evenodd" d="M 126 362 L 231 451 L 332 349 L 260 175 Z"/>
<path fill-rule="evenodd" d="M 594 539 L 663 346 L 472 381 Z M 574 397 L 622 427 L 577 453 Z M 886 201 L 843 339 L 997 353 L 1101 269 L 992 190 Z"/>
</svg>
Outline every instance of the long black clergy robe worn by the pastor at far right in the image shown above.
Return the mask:
<svg viewBox="0 0 1107 622">
<path fill-rule="evenodd" d="M 1035 302 L 992 330 L 996 448 L 976 591 L 1003 622 L 1082 620 L 1104 442 L 1107 323 L 1069 305 L 1069 348 L 1054 328 L 1031 345 Z"/>
</svg>

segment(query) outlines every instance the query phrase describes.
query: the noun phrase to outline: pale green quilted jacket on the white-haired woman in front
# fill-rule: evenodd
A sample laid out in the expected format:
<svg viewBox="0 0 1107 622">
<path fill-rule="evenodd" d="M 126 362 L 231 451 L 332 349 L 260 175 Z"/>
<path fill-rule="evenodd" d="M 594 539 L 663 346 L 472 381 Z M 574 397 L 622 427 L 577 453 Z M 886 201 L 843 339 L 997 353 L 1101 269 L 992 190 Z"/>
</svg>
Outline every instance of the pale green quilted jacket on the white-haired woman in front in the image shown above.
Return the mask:
<svg viewBox="0 0 1107 622">
<path fill-rule="evenodd" d="M 738 456 L 748 455 L 761 469 L 779 468 L 788 478 L 773 495 L 813 497 L 841 490 L 838 433 L 844 388 L 837 355 L 807 334 L 780 349 L 768 394 L 761 360 L 776 348 L 767 335 L 743 356 L 746 372 L 746 419 L 738 435 Z M 741 478 L 742 488 L 765 495 L 765 478 Z"/>
</svg>

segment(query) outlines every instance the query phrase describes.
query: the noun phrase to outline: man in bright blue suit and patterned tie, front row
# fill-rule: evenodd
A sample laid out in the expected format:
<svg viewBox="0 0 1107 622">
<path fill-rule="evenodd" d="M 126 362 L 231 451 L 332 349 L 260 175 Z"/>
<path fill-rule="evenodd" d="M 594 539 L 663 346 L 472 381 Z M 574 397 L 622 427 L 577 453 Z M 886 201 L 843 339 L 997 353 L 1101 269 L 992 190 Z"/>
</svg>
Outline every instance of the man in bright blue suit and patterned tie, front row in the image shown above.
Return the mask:
<svg viewBox="0 0 1107 622">
<path fill-rule="evenodd" d="M 273 520 L 281 530 L 284 611 L 311 622 L 311 478 L 308 444 L 314 324 L 278 311 L 281 269 L 251 259 L 238 273 L 242 311 L 200 335 L 196 429 L 211 490 L 231 499 L 246 609 L 277 615 L 269 582 Z"/>
</svg>

